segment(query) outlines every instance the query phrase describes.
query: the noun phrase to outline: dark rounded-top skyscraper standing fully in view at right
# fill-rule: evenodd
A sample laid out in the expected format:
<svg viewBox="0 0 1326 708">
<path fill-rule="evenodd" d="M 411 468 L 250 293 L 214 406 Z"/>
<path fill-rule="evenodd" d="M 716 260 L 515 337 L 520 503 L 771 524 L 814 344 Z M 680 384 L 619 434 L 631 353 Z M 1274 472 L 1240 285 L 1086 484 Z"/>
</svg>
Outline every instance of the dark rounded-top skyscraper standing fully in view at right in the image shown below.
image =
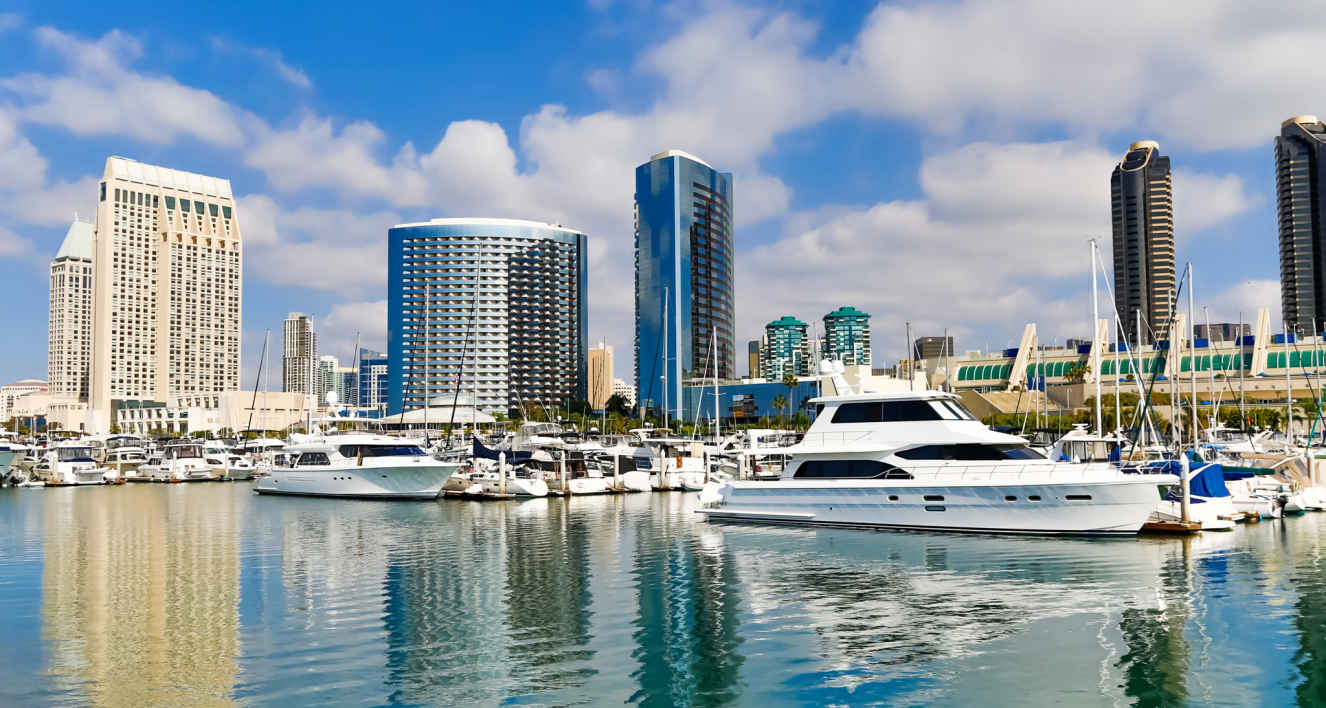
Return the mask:
<svg viewBox="0 0 1326 708">
<path fill-rule="evenodd" d="M 1114 220 L 1114 304 L 1128 339 L 1166 338 L 1174 297 L 1174 186 L 1170 158 L 1154 141 L 1128 146 L 1110 175 Z"/>
</svg>

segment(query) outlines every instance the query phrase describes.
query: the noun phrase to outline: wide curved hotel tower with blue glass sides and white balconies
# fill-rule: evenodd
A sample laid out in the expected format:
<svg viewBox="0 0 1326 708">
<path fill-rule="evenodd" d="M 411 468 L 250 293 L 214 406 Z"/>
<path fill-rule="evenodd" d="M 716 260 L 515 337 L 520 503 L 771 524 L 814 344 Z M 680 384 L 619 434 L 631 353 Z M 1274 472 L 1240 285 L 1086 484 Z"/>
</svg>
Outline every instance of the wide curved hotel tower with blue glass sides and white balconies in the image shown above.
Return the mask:
<svg viewBox="0 0 1326 708">
<path fill-rule="evenodd" d="M 485 412 L 586 398 L 583 233 L 517 219 L 434 219 L 387 237 L 392 415 L 456 395 L 457 375 Z"/>
</svg>

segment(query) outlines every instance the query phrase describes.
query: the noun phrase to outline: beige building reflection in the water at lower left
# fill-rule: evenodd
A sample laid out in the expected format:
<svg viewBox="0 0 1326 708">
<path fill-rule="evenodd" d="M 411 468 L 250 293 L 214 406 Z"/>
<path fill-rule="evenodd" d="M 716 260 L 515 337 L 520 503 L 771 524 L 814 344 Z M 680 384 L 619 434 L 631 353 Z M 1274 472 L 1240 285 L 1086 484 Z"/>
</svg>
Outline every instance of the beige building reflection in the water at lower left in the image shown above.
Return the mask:
<svg viewBox="0 0 1326 708">
<path fill-rule="evenodd" d="M 49 674 L 95 705 L 232 700 L 243 504 L 221 488 L 42 495 Z M 114 495 L 114 500 L 107 499 Z"/>
</svg>

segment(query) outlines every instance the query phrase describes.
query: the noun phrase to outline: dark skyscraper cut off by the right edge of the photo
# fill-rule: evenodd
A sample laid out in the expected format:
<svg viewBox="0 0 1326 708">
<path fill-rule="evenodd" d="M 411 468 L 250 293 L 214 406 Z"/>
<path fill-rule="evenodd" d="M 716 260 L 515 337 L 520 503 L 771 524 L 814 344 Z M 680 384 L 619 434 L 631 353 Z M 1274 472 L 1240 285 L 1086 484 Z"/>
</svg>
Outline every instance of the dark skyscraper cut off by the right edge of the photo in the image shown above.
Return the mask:
<svg viewBox="0 0 1326 708">
<path fill-rule="evenodd" d="M 1290 331 L 1326 331 L 1326 125 L 1298 115 L 1276 138 L 1280 304 Z"/>
</svg>

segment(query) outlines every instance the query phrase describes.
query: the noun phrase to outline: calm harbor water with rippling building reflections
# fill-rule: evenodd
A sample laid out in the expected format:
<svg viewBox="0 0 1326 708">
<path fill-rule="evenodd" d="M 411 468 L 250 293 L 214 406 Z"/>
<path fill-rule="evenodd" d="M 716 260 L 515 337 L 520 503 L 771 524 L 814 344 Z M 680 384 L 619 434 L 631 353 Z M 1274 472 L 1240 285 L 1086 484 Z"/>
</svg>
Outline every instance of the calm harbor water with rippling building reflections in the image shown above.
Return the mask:
<svg viewBox="0 0 1326 708">
<path fill-rule="evenodd" d="M 0 704 L 1326 704 L 1326 514 L 1074 541 L 692 504 L 0 491 Z"/>
</svg>

